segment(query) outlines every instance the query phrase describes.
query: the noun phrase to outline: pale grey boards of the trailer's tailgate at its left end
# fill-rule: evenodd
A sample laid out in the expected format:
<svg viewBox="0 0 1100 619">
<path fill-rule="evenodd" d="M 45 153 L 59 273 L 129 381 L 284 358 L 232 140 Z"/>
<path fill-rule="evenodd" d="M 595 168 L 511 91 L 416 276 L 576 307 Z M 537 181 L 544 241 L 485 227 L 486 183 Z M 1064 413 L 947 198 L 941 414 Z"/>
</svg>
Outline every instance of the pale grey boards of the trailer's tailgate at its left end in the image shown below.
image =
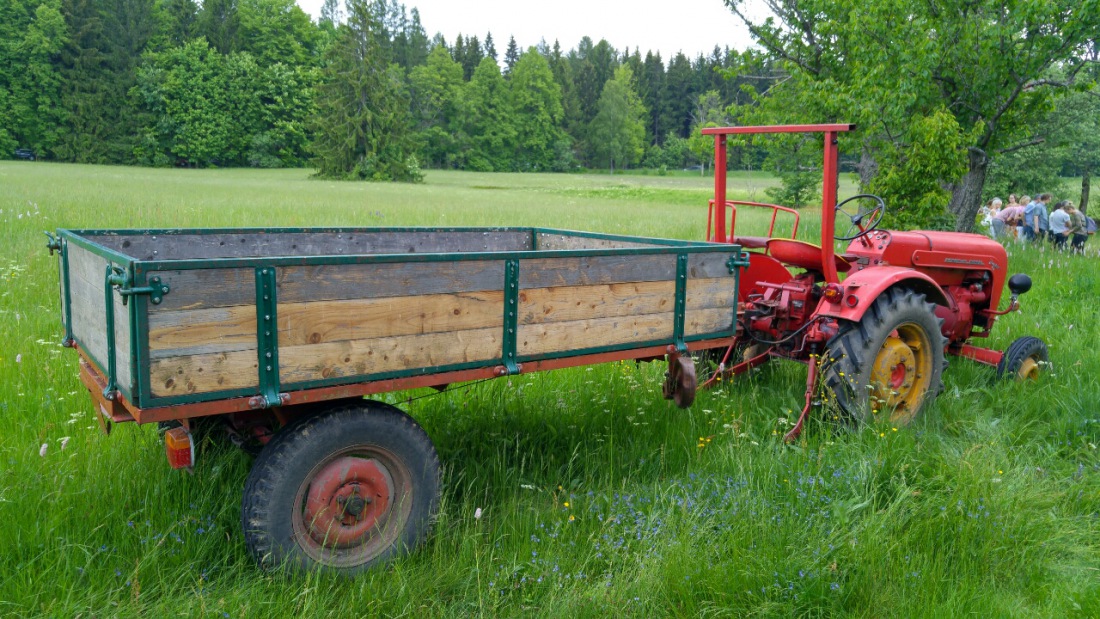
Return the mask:
<svg viewBox="0 0 1100 619">
<path fill-rule="evenodd" d="M 107 358 L 107 306 L 105 278 L 107 259 L 75 244 L 66 252 L 69 261 L 69 299 L 73 303 L 73 334 L 99 363 Z M 130 358 L 130 311 L 122 297 L 114 295 L 114 363 L 116 383 L 128 389 L 133 386 Z M 100 368 L 103 373 L 107 367 Z"/>
</svg>

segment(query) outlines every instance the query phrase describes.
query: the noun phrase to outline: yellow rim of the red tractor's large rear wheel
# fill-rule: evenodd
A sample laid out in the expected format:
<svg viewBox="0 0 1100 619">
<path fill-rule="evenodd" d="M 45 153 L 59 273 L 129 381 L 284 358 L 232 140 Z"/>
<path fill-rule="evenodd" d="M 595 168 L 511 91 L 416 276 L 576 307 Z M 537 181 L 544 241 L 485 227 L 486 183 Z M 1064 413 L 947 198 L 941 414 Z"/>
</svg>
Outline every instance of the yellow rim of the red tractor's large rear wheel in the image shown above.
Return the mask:
<svg viewBox="0 0 1100 619">
<path fill-rule="evenodd" d="M 890 411 L 890 421 L 908 423 L 921 409 L 932 384 L 932 342 L 924 329 L 900 324 L 875 355 L 870 376 L 872 412 Z"/>
</svg>

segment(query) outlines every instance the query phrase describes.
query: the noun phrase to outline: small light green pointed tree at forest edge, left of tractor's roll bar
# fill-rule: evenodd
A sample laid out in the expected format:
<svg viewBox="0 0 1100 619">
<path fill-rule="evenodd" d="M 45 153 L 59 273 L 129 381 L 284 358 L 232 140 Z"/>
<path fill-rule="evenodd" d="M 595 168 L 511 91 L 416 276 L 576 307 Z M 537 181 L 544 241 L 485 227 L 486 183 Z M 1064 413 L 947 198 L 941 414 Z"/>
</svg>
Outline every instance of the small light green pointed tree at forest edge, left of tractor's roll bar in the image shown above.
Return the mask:
<svg viewBox="0 0 1100 619">
<path fill-rule="evenodd" d="M 634 89 L 634 73 L 620 66 L 604 85 L 596 118 L 592 120 L 592 147 L 607 162 L 625 168 L 637 162 L 646 147 L 646 108 Z"/>
</svg>

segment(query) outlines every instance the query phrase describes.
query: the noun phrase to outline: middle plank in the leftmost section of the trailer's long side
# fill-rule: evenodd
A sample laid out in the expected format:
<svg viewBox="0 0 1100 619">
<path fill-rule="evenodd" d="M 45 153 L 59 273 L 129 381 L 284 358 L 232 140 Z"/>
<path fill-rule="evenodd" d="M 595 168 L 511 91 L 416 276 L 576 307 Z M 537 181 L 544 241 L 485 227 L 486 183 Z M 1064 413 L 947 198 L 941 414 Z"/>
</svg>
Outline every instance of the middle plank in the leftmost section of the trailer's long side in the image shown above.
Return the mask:
<svg viewBox="0 0 1100 619">
<path fill-rule="evenodd" d="M 163 305 L 163 303 L 162 303 Z M 151 358 L 256 350 L 256 307 L 161 311 L 150 306 Z"/>
</svg>

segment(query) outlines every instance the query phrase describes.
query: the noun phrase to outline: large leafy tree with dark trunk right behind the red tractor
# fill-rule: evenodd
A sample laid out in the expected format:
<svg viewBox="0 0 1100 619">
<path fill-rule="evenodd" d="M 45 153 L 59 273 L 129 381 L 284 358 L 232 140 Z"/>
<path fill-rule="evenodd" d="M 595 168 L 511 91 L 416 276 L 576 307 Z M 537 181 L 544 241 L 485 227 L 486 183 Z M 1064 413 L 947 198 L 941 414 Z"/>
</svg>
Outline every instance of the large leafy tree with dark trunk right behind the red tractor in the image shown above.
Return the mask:
<svg viewBox="0 0 1100 619">
<path fill-rule="evenodd" d="M 790 71 L 761 100 L 772 118 L 790 122 L 794 111 L 814 122 L 855 121 L 865 128 L 858 147 L 882 172 L 888 161 L 899 166 L 895 175 L 925 174 L 904 154 L 906 139 L 923 135 L 931 119 L 944 146 L 961 145 L 965 157 L 961 174 L 936 179 L 950 190 L 946 208 L 956 230 L 972 228 L 990 162 L 1035 140 L 1030 129 L 1057 89 L 1074 81 L 1082 48 L 1100 31 L 1097 0 L 1012 9 L 993 0 L 871 0 L 858 10 L 829 0 L 766 4 L 776 18 L 760 22 L 748 16 L 745 0 L 727 0 Z M 1052 79 L 1055 68 L 1064 77 Z"/>
</svg>

